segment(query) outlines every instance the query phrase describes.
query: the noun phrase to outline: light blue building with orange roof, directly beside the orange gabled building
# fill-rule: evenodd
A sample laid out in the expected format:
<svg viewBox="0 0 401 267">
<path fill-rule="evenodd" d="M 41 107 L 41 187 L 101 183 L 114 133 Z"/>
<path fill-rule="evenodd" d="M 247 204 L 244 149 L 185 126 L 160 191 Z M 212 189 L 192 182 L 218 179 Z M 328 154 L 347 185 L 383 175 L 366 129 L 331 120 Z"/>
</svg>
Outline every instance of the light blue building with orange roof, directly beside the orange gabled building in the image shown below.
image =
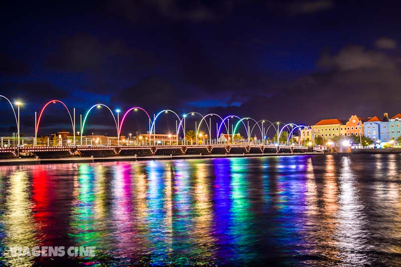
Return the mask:
<svg viewBox="0 0 401 267">
<path fill-rule="evenodd" d="M 364 135 L 376 143 L 386 143 L 389 141 L 388 114 L 384 113 L 383 118 L 372 117 L 364 123 Z"/>
</svg>

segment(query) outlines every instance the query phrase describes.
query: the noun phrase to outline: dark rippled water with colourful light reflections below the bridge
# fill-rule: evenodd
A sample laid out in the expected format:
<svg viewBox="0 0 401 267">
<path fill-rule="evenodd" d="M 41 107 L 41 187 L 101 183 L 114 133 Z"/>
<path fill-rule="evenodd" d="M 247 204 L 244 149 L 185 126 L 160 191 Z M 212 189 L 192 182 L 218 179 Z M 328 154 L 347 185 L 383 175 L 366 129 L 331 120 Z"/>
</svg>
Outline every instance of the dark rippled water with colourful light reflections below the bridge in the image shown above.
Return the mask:
<svg viewBox="0 0 401 267">
<path fill-rule="evenodd" d="M 4 265 L 401 264 L 401 155 L 0 167 Z M 96 246 L 13 257 L 10 246 Z"/>
</svg>

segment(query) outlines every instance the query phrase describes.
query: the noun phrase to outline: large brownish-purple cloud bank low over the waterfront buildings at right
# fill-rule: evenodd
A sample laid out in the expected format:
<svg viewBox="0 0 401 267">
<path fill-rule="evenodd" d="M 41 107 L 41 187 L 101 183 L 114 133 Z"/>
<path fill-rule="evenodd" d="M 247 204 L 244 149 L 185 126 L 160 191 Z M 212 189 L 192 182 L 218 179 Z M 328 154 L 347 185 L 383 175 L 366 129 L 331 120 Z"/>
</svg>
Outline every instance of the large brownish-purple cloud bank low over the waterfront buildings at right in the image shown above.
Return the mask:
<svg viewBox="0 0 401 267">
<path fill-rule="evenodd" d="M 344 51 L 354 51 L 356 55 L 352 57 L 354 53 Z M 344 54 L 351 58 L 347 59 Z M 326 62 L 331 67 L 329 71 L 283 84 L 275 95 L 261 93 L 239 107 L 214 111 L 305 124 L 314 124 L 323 118 L 348 119 L 352 114 L 368 117 L 399 112 L 401 69 L 391 61 L 390 65 L 385 64 L 384 54 L 345 48 L 329 59 L 325 57 L 320 61 L 330 63 Z M 349 60 L 356 63 L 351 64 Z"/>
</svg>

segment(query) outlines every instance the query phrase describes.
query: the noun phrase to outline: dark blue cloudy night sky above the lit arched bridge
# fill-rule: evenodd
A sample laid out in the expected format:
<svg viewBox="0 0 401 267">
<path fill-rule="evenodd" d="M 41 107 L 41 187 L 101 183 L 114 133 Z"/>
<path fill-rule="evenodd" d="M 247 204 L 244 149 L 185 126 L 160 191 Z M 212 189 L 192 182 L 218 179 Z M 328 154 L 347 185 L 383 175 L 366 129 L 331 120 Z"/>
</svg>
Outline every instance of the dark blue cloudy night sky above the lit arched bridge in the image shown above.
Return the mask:
<svg viewBox="0 0 401 267">
<path fill-rule="evenodd" d="M 13 2 L 14 3 L 14 2 Z M 363 4 L 362 4 L 363 3 Z M 0 94 L 21 100 L 22 133 L 51 99 L 85 114 L 141 106 L 314 124 L 401 112 L 396 1 L 110 1 L 2 4 Z M 105 108 L 88 131 L 113 135 Z M 0 100 L 0 135 L 15 131 Z M 14 120 L 13 120 L 14 119 Z M 50 105 L 43 134 L 70 129 Z M 189 123 L 189 122 L 188 122 Z M 190 122 L 192 124 L 194 122 Z M 145 132 L 144 114 L 125 131 Z M 160 119 L 160 132 L 175 118 Z"/>
</svg>

